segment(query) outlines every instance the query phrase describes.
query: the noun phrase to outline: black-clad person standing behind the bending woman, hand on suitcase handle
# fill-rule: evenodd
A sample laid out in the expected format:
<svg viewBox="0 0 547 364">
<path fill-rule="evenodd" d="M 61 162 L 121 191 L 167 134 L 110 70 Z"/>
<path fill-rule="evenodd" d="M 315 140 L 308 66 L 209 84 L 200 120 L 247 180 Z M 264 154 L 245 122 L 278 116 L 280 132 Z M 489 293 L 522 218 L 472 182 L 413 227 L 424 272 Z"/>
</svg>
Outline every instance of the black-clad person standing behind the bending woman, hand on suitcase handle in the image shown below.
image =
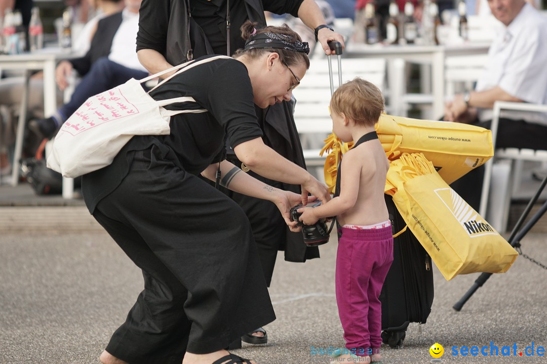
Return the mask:
<svg viewBox="0 0 547 364">
<path fill-rule="evenodd" d="M 240 33 L 234 30 L 240 29 L 247 20 L 256 23 L 257 31 L 265 27 L 265 10 L 274 14 L 289 13 L 298 16 L 306 26 L 315 29 L 316 40 L 327 54 L 331 53 L 328 41 L 336 40 L 344 45 L 342 35 L 326 24 L 321 9 L 313 0 L 143 0 L 137 34 L 137 55 L 150 73 L 168 69 L 191 57 L 207 54 L 231 56 L 235 50 L 245 45 Z M 229 28 L 226 26 L 228 23 Z M 295 87 L 298 83 L 299 80 Z M 305 168 L 293 118 L 294 99 L 279 101 L 280 103 L 274 105 L 257 106 L 255 110 L 264 133 L 263 140 L 283 157 Z M 237 158 L 231 148 L 231 140 L 227 143 L 227 159 L 234 165 L 240 166 L 243 171 L 270 186 L 298 192 L 299 186 L 289 186 L 249 170 Z M 302 234 L 289 231 L 275 213 L 275 206 L 269 201 L 226 189 L 223 191 L 243 208 L 251 221 L 268 285 L 274 272 L 278 250 L 284 250 L 288 261 L 305 262 L 307 259 L 319 257 L 318 248 L 306 247 Z M 243 336 L 242 340 L 251 344 L 264 344 L 267 343 L 267 334 L 259 327 Z M 238 344 L 241 345 L 234 345 Z"/>
</svg>

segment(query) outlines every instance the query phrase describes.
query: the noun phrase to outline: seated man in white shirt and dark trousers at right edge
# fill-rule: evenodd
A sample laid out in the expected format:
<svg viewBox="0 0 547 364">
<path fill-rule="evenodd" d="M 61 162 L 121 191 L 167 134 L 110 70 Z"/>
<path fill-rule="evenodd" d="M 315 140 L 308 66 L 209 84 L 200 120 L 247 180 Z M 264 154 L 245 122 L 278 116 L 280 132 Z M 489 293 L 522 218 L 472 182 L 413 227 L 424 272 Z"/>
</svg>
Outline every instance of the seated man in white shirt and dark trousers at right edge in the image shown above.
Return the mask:
<svg viewBox="0 0 547 364">
<path fill-rule="evenodd" d="M 488 0 L 504 25 L 488 50 L 488 62 L 474 91 L 458 94 L 445 105 L 444 120 L 490 128 L 497 100 L 547 104 L 547 18 L 525 0 Z M 545 149 L 543 114 L 507 112 L 499 119 L 496 147 Z M 482 175 L 477 168 L 451 187 L 479 210 Z"/>
</svg>

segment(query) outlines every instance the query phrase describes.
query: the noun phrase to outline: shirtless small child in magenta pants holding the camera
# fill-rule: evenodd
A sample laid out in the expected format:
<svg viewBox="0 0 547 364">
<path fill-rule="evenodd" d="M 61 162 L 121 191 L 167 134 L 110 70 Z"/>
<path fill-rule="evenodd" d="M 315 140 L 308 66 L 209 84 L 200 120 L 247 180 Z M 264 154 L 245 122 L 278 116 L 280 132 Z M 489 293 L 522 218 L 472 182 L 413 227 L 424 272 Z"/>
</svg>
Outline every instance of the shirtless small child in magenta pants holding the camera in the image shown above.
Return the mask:
<svg viewBox="0 0 547 364">
<path fill-rule="evenodd" d="M 393 261 L 393 236 L 383 190 L 389 161 L 374 126 L 384 109 L 372 83 L 344 83 L 330 101 L 333 132 L 355 144 L 338 167 L 334 198 L 303 207 L 300 221 L 313 225 L 336 216 L 341 235 L 336 253 L 336 303 L 346 349 L 332 363 L 379 362 L 382 344 L 380 291 Z"/>
</svg>

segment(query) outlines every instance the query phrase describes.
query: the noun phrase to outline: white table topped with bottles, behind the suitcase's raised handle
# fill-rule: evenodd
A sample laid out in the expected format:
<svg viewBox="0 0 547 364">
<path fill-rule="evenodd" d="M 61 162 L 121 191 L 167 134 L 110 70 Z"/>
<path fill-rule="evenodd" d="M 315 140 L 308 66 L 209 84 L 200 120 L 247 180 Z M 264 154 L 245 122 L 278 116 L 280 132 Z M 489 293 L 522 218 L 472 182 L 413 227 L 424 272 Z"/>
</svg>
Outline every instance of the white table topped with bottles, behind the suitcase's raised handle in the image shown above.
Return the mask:
<svg viewBox="0 0 547 364">
<path fill-rule="evenodd" d="M 352 58 L 386 58 L 387 82 L 390 104 L 395 105 L 395 110 L 403 104 L 404 75 L 397 72 L 395 62 L 403 59 L 406 62 L 431 63 L 432 66 L 432 94 L 433 115 L 440 117 L 444 112 L 445 96 L 445 58 L 448 56 L 466 56 L 485 54 L 490 44 L 465 43 L 460 45 L 367 45 L 362 43 L 350 43 L 346 45 L 346 56 Z M 342 63 L 342 67 L 344 64 Z M 342 68 L 343 69 L 343 68 Z M 398 114 L 395 111 L 394 114 Z"/>
</svg>

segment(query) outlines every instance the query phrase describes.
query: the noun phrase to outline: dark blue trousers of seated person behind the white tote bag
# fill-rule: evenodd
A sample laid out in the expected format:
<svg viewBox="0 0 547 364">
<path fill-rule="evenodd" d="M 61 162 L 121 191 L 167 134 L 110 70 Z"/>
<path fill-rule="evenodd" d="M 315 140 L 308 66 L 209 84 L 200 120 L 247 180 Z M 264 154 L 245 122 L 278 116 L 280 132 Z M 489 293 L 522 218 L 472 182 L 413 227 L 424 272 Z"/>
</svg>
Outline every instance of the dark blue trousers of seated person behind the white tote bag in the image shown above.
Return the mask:
<svg viewBox="0 0 547 364">
<path fill-rule="evenodd" d="M 70 101 L 57 110 L 63 118 L 61 122 L 64 123 L 89 97 L 121 85 L 131 78 L 139 80 L 146 76 L 148 73 L 145 71 L 124 67 L 107 57 L 97 59 L 74 89 Z"/>
</svg>

